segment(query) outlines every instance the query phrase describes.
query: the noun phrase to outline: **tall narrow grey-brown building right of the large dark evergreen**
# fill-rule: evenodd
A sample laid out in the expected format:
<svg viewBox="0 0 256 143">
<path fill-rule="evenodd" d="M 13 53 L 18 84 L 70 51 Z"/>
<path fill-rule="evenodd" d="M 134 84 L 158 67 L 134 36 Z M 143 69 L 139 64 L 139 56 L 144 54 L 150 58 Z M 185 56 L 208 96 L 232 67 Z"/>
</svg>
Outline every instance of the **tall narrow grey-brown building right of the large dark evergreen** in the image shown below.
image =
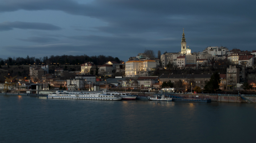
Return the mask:
<svg viewBox="0 0 256 143">
<path fill-rule="evenodd" d="M 227 68 L 226 80 L 227 80 L 227 90 L 236 90 L 237 83 L 240 83 L 240 69 L 237 66 L 230 65 Z"/>
</svg>

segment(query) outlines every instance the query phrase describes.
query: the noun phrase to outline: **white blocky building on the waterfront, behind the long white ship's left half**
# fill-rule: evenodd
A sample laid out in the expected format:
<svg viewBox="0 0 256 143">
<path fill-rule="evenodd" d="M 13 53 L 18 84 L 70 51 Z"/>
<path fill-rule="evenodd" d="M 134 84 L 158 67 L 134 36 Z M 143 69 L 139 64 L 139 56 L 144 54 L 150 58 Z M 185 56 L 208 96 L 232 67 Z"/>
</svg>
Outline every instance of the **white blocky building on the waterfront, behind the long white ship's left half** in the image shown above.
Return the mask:
<svg viewBox="0 0 256 143">
<path fill-rule="evenodd" d="M 68 79 L 67 80 L 67 90 L 79 90 L 85 88 L 84 79 Z"/>
</svg>

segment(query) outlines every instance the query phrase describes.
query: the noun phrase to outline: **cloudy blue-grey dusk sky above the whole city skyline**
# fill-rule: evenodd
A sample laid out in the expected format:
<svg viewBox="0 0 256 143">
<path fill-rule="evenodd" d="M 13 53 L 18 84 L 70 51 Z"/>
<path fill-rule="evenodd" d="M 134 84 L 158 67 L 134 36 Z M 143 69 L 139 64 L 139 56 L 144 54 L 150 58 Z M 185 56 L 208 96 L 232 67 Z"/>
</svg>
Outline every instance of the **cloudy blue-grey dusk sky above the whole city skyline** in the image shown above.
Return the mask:
<svg viewBox="0 0 256 143">
<path fill-rule="evenodd" d="M 256 50 L 254 0 L 1 0 L 0 58 Z"/>
</svg>

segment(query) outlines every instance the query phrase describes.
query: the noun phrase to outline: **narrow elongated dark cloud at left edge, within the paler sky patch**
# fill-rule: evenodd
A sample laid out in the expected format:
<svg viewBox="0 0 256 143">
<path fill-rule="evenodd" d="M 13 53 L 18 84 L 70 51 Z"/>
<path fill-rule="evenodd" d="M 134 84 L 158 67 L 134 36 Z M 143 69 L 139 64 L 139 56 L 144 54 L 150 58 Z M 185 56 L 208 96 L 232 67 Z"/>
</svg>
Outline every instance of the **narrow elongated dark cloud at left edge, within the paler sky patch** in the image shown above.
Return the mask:
<svg viewBox="0 0 256 143">
<path fill-rule="evenodd" d="M 48 24 L 48 23 L 29 23 L 29 22 L 3 22 L 0 23 L 0 31 L 13 30 L 14 28 L 19 29 L 37 29 L 37 30 L 60 30 L 61 27 Z"/>
</svg>

